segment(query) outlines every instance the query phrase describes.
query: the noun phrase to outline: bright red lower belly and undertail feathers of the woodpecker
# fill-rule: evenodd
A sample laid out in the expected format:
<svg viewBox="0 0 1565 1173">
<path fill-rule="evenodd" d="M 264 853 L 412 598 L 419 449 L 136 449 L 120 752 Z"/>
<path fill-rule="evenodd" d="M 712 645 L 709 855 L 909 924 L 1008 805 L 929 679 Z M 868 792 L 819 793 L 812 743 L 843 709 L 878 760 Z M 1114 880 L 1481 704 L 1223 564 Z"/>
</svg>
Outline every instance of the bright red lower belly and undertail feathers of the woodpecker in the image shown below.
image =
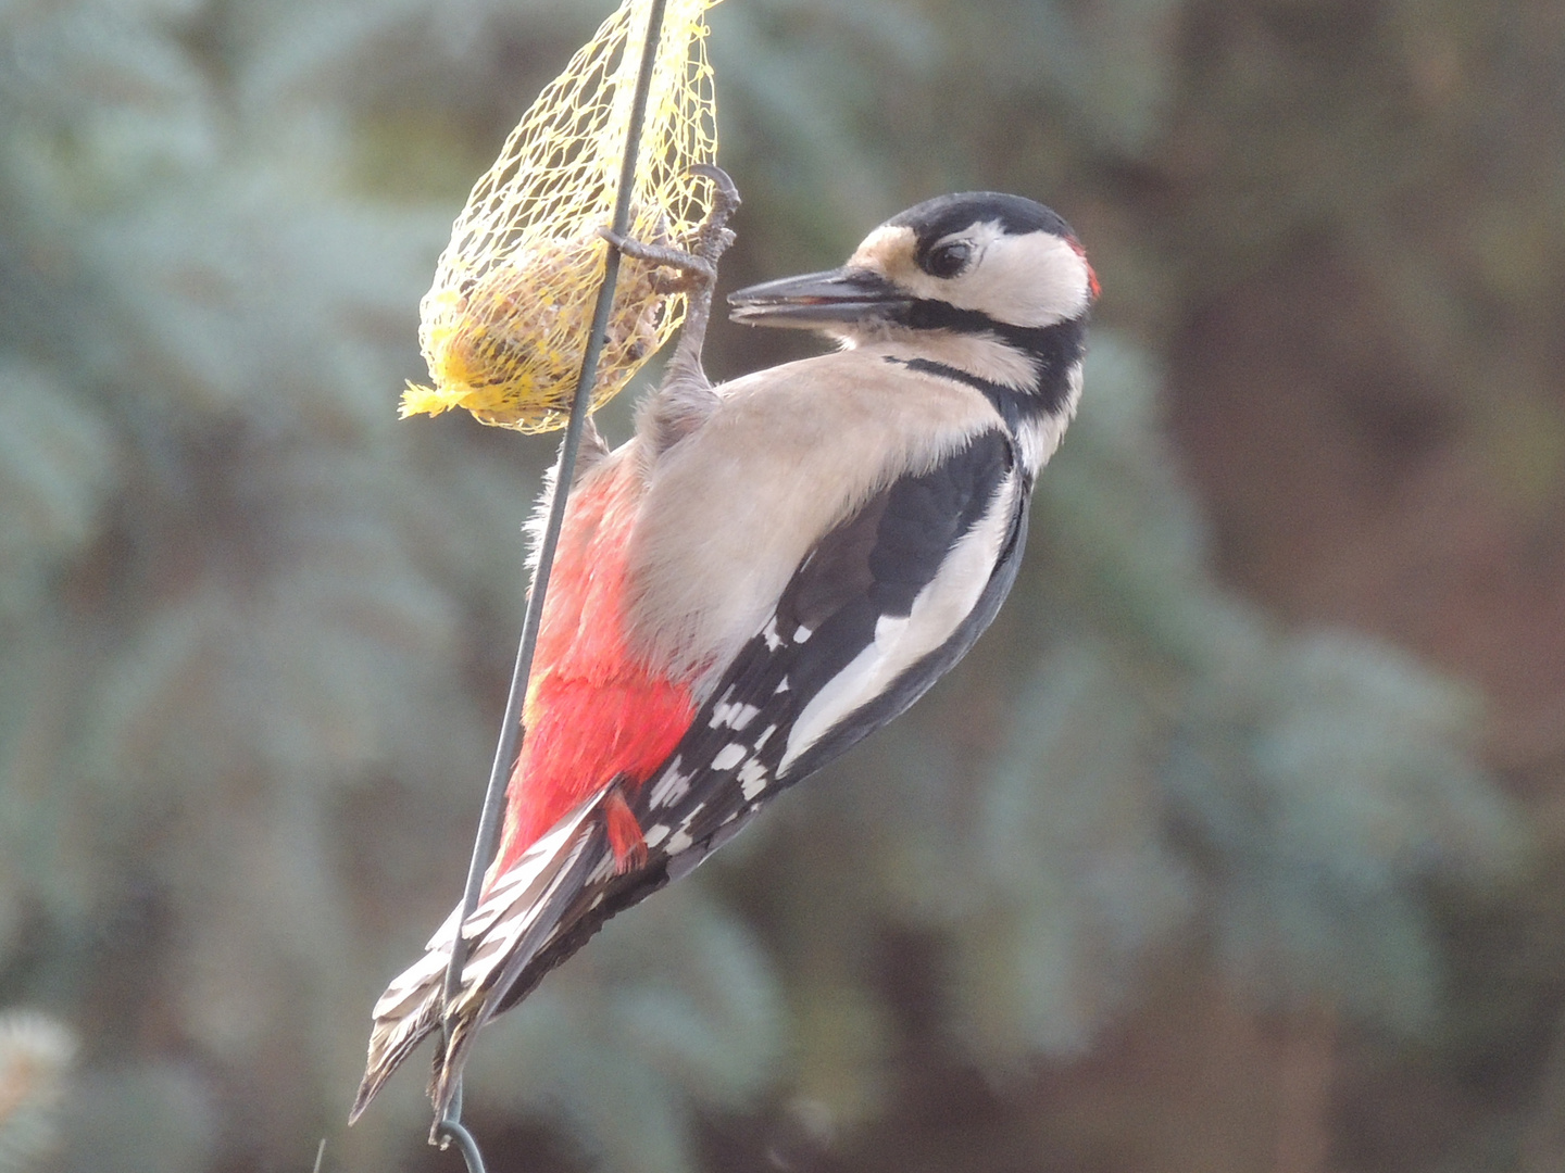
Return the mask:
<svg viewBox="0 0 1565 1173">
<path fill-rule="evenodd" d="M 588 480 L 567 508 L 493 876 L 606 787 L 634 795 L 695 718 L 687 682 L 626 646 L 626 547 L 642 488 L 626 461 Z M 637 849 L 645 852 L 645 840 L 624 799 L 615 798 L 604 812 L 615 860 L 624 868 Z"/>
</svg>

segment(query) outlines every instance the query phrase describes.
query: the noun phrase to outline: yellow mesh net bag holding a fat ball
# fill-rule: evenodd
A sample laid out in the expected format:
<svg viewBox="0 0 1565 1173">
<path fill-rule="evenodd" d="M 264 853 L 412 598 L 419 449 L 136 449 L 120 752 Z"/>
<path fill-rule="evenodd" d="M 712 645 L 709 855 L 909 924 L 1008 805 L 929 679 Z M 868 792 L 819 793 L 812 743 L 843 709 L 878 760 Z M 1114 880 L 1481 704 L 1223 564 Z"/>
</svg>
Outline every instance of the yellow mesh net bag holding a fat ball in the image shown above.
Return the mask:
<svg viewBox="0 0 1565 1173">
<path fill-rule="evenodd" d="M 667 0 L 631 194 L 629 235 L 689 247 L 717 158 L 704 13 L 718 0 Z M 432 386 L 408 383 L 404 418 L 463 407 L 520 432 L 563 427 L 581 374 L 651 0 L 624 0 L 576 52 L 477 181 L 419 302 Z M 592 407 L 618 393 L 684 321 L 657 266 L 624 256 Z"/>
</svg>

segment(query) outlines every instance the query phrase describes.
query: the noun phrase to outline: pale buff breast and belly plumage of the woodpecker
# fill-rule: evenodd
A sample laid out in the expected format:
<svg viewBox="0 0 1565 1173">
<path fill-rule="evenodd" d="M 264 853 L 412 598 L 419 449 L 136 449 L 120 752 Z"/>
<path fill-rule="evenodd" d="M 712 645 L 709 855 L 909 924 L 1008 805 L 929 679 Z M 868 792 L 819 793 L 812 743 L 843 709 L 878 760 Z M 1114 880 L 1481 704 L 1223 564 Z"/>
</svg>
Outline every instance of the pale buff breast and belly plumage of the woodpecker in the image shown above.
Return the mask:
<svg viewBox="0 0 1565 1173">
<path fill-rule="evenodd" d="M 651 469 L 629 551 L 635 649 L 676 676 L 717 666 L 696 682 L 703 699 L 822 533 L 997 422 L 972 388 L 856 352 L 718 391 L 703 427 Z"/>
</svg>

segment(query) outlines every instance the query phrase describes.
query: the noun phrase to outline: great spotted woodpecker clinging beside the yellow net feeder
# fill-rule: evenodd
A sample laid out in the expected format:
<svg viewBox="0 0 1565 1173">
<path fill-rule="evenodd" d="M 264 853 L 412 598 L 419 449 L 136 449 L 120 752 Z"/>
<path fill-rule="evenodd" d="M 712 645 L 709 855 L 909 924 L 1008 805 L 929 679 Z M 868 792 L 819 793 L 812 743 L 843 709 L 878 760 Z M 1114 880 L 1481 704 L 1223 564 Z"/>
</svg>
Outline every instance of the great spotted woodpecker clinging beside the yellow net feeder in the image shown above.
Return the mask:
<svg viewBox="0 0 1565 1173">
<path fill-rule="evenodd" d="M 499 854 L 374 1007 L 352 1115 L 443 1021 L 437 1114 L 474 1032 L 598 927 L 679 879 L 787 787 L 901 713 L 1011 590 L 1033 479 L 1081 393 L 1097 278 L 1060 216 L 942 196 L 840 269 L 729 297 L 836 353 L 721 386 L 700 350 L 737 205 L 726 177 L 692 314 L 635 436 L 588 433 L 527 691 Z"/>
</svg>

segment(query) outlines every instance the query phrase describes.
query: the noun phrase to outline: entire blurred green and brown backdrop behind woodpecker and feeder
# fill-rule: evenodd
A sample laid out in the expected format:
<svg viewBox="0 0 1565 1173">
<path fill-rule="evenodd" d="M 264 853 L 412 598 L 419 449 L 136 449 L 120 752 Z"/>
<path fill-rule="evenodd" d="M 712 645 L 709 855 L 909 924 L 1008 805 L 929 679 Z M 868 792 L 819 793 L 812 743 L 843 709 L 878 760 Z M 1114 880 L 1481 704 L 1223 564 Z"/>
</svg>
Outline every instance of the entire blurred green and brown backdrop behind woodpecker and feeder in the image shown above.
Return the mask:
<svg viewBox="0 0 1565 1173">
<path fill-rule="evenodd" d="M 396 397 L 607 8 L 0 3 L 0 1168 L 454 1159 L 416 1078 L 341 1121 L 552 443 Z M 1565 1162 L 1556 9 L 712 11 L 725 288 L 1017 191 L 1103 278 L 1088 396 L 973 655 L 485 1037 L 495 1173 Z"/>
</svg>

